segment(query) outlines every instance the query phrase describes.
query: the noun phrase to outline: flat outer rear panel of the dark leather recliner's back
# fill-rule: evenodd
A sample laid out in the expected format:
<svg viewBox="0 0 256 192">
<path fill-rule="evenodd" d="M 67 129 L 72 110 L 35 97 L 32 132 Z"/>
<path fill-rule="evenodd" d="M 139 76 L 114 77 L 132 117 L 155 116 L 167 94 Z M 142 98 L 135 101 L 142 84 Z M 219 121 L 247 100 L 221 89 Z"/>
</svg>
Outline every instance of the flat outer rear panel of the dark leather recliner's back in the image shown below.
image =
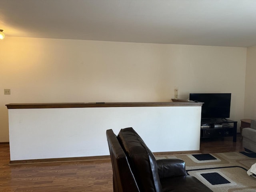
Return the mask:
<svg viewBox="0 0 256 192">
<path fill-rule="evenodd" d="M 114 192 L 140 192 L 128 159 L 112 129 L 106 131 L 113 169 Z"/>
</svg>

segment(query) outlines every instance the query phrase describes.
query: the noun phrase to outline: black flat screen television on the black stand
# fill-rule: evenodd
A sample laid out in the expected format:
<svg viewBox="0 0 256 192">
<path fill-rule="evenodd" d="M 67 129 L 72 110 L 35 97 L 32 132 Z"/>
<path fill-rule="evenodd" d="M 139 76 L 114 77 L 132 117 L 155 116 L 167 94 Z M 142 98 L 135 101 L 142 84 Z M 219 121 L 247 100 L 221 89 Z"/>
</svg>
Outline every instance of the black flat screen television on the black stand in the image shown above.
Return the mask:
<svg viewBox="0 0 256 192">
<path fill-rule="evenodd" d="M 202 118 L 229 118 L 231 93 L 190 93 L 189 100 L 204 102 Z"/>
</svg>

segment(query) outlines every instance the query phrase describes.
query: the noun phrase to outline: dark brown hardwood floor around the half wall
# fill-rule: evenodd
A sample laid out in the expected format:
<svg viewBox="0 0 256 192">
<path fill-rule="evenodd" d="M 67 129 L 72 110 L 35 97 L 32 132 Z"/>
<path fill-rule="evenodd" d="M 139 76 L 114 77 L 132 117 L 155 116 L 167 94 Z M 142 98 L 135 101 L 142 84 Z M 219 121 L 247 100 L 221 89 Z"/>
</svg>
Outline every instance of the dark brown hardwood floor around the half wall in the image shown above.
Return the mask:
<svg viewBox="0 0 256 192">
<path fill-rule="evenodd" d="M 202 140 L 202 153 L 242 151 L 232 137 Z M 0 145 L 0 192 L 112 192 L 110 160 L 9 165 L 9 145 Z"/>
</svg>

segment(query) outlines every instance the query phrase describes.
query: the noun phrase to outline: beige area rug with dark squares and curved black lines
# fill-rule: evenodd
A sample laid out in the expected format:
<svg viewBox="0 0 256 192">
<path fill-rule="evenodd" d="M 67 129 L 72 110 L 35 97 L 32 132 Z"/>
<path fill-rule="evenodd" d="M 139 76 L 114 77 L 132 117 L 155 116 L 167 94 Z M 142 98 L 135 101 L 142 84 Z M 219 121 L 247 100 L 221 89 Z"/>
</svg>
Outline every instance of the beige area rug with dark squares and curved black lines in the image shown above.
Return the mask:
<svg viewBox="0 0 256 192">
<path fill-rule="evenodd" d="M 256 163 L 254 154 L 226 152 L 156 158 L 184 160 L 187 173 L 198 178 L 214 192 L 256 192 L 256 177 L 247 174 L 247 170 Z"/>
</svg>

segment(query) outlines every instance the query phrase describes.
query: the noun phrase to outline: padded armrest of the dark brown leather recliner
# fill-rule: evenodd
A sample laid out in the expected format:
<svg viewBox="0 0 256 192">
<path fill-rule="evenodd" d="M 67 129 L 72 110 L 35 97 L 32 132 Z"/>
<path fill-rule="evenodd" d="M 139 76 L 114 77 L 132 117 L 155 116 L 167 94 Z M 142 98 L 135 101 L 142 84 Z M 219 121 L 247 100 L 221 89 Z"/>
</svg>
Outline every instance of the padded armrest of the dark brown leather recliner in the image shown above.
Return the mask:
<svg viewBox="0 0 256 192">
<path fill-rule="evenodd" d="M 187 175 L 185 162 L 181 159 L 159 159 L 156 163 L 160 179 Z"/>
</svg>

